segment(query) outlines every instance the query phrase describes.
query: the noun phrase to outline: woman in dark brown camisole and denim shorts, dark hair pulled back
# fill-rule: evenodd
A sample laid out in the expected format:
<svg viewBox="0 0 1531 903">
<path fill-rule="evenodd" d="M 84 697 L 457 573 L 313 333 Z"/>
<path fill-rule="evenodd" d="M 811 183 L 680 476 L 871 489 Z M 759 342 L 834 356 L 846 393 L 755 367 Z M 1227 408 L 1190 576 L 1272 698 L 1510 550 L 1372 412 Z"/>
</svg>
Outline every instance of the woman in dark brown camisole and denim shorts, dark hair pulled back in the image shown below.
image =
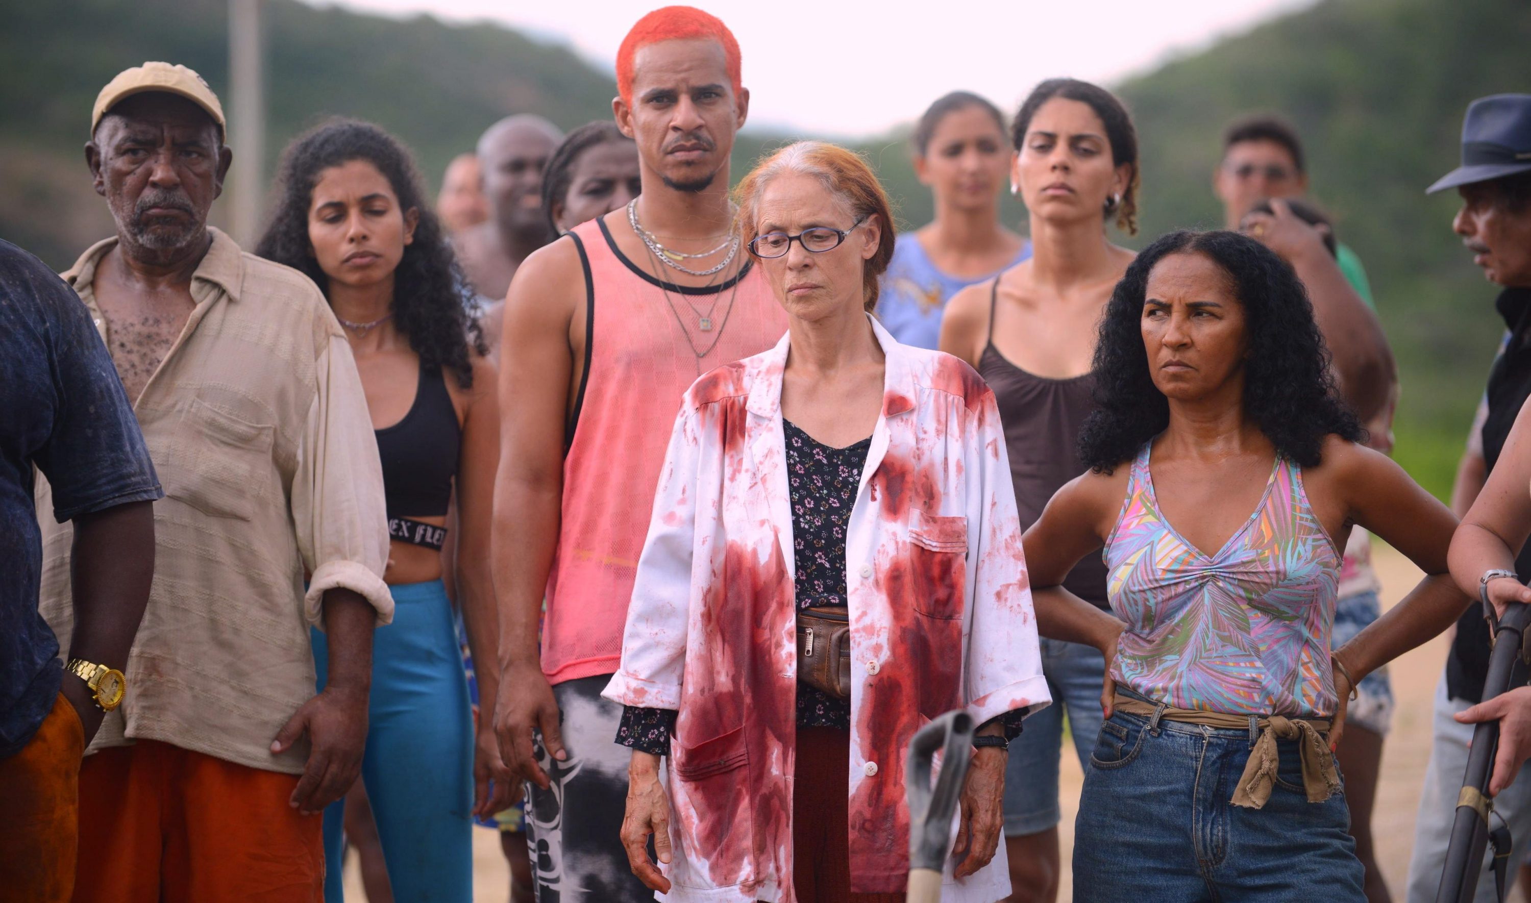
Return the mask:
<svg viewBox="0 0 1531 903">
<path fill-rule="evenodd" d="M 1076 442 L 1095 409 L 1090 373 L 1096 323 L 1133 253 L 1108 223 L 1131 233 L 1138 213 L 1138 133 L 1105 89 L 1070 78 L 1038 84 L 1010 122 L 1012 185 L 1026 202 L 1032 257 L 958 292 L 942 323 L 942 350 L 972 364 L 994 389 L 1004 422 L 1015 507 L 1030 526 L 1058 487 L 1084 471 Z M 1070 591 L 1107 606 L 1105 565 L 1085 559 Z M 1101 729 L 1105 660 L 1085 644 L 1041 640 L 1053 706 L 1010 744 L 1004 845 L 1010 900 L 1058 895 L 1058 756 L 1064 713 L 1079 765 Z"/>
</svg>

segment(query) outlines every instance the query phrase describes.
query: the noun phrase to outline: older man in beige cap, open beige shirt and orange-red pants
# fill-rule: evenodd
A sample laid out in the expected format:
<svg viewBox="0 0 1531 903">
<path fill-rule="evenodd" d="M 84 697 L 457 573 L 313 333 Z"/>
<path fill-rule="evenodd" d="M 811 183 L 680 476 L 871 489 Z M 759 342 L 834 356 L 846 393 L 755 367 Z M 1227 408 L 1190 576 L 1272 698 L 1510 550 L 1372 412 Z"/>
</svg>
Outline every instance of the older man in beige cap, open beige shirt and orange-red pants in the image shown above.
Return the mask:
<svg viewBox="0 0 1531 903">
<path fill-rule="evenodd" d="M 64 279 L 165 497 L 129 692 L 80 771 L 75 900 L 320 900 L 318 813 L 355 781 L 393 611 L 361 381 L 314 283 L 207 225 L 231 155 L 196 72 L 122 72 L 90 127 L 116 237 Z M 41 530 L 43 612 L 67 637 L 70 528 Z M 317 696 L 309 624 L 329 638 Z"/>
</svg>

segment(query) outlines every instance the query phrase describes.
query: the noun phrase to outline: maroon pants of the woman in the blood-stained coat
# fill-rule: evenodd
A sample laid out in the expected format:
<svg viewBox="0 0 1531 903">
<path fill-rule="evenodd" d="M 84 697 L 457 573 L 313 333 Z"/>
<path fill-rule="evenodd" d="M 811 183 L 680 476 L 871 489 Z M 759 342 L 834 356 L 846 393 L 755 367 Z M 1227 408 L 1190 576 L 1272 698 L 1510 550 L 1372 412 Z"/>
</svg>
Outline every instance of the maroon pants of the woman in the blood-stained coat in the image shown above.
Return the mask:
<svg viewBox="0 0 1531 903">
<path fill-rule="evenodd" d="M 903 903 L 903 894 L 851 894 L 851 735 L 798 729 L 792 791 L 792 883 L 799 903 Z"/>
</svg>

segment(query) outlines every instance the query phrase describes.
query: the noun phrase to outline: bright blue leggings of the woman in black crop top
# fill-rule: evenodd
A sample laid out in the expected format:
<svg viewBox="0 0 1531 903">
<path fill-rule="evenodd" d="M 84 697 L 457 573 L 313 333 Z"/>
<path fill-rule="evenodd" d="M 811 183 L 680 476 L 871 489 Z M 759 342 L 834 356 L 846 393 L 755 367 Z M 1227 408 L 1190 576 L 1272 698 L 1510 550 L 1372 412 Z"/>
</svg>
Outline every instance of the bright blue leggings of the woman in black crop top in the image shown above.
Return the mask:
<svg viewBox="0 0 1531 903">
<path fill-rule="evenodd" d="M 372 696 L 361 781 L 372 800 L 387 879 L 398 903 L 473 898 L 473 718 L 441 580 L 390 586 L 393 623 L 372 638 Z M 329 650 L 314 637 L 318 689 Z M 341 820 L 325 810 L 325 900 L 343 903 Z"/>
</svg>

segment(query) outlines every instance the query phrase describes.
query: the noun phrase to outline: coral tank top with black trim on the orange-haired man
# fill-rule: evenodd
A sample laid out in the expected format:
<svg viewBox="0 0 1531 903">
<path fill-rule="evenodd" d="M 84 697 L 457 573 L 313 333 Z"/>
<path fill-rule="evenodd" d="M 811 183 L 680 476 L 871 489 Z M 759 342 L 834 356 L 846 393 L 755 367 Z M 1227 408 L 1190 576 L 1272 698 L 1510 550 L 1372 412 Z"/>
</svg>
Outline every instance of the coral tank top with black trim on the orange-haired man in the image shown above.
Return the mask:
<svg viewBox="0 0 1531 903">
<path fill-rule="evenodd" d="M 775 346 L 787 331 L 756 266 L 718 286 L 680 286 L 628 260 L 602 217 L 571 234 L 585 265 L 588 328 L 542 629 L 551 683 L 617 670 L 654 490 L 686 389 L 701 373 Z M 710 332 L 698 329 L 701 317 Z"/>
</svg>

